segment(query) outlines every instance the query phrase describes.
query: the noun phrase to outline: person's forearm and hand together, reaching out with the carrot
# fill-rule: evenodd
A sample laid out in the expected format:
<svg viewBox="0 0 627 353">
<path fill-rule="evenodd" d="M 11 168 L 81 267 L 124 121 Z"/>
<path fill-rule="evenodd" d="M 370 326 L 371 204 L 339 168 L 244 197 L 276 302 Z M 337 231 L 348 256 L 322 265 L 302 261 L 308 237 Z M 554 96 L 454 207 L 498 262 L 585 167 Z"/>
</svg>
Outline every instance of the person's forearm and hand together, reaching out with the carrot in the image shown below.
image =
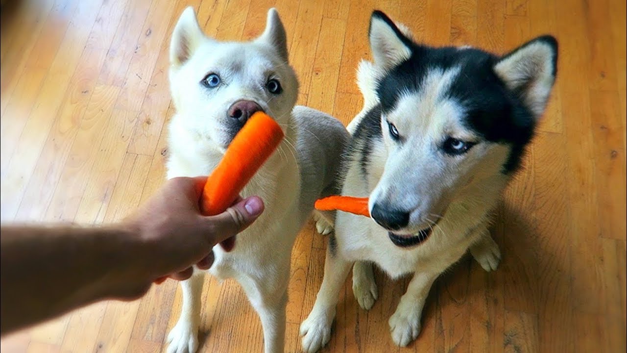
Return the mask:
<svg viewBox="0 0 627 353">
<path fill-rule="evenodd" d="M 132 300 L 152 281 L 208 269 L 212 247 L 263 211 L 257 197 L 222 214 L 200 213 L 206 178 L 174 178 L 135 214 L 110 227 L 2 227 L 2 334 L 105 298 Z M 225 249 L 226 249 L 225 247 Z"/>
</svg>

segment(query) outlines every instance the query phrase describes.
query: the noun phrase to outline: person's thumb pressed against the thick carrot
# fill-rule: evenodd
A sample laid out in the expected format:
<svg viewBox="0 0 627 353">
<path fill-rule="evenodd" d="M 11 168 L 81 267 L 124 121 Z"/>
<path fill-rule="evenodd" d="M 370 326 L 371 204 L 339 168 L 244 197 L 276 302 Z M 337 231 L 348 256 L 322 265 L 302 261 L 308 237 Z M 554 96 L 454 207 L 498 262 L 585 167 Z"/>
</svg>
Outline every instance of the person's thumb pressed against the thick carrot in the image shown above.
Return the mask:
<svg viewBox="0 0 627 353">
<path fill-rule="evenodd" d="M 253 224 L 263 212 L 263 201 L 253 196 L 241 200 L 219 215 L 203 217 L 203 222 L 211 229 L 211 239 L 218 243 L 238 234 Z"/>
</svg>

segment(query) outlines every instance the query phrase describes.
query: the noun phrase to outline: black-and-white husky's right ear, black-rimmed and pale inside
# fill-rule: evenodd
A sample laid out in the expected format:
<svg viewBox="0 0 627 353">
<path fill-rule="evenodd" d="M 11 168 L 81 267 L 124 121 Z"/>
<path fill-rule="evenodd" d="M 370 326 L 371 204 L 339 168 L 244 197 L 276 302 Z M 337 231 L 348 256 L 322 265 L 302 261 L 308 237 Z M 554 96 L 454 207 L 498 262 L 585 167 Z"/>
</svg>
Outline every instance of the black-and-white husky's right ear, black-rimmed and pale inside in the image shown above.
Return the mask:
<svg viewBox="0 0 627 353">
<path fill-rule="evenodd" d="M 538 119 L 551 94 L 557 73 L 557 40 L 540 36 L 500 58 L 494 72 Z"/>
</svg>

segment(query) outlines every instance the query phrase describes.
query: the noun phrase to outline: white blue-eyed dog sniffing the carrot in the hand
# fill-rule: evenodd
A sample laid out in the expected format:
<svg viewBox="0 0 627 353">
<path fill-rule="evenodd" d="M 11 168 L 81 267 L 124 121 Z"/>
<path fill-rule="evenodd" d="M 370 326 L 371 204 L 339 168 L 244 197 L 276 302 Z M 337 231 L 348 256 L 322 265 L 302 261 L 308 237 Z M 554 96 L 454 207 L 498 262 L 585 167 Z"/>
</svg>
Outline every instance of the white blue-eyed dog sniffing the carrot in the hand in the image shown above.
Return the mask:
<svg viewBox="0 0 627 353">
<path fill-rule="evenodd" d="M 293 242 L 314 201 L 334 187 L 339 156 L 350 138 L 336 119 L 294 107 L 298 82 L 288 65 L 285 29 L 275 9 L 256 40 L 219 42 L 207 38 L 192 8 L 172 35 L 170 84 L 176 116 L 169 126 L 167 177 L 208 175 L 234 135 L 256 111 L 283 128 L 277 152 L 246 186 L 265 212 L 238 235 L 233 251 L 214 247 L 209 272 L 240 283 L 261 318 L 265 352 L 283 352 L 285 305 Z M 324 220 L 319 227 L 328 228 Z M 184 241 L 182 239 L 181 241 Z M 168 336 L 168 352 L 198 349 L 203 273 L 182 282 L 182 312 Z"/>
</svg>

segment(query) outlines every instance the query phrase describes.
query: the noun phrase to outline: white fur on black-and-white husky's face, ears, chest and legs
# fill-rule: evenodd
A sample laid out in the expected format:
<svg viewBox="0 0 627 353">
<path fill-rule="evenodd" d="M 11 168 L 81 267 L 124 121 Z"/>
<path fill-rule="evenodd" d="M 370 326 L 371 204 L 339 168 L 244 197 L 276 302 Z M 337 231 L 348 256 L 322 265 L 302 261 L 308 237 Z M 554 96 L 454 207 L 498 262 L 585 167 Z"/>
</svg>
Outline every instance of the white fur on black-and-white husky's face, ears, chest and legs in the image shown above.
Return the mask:
<svg viewBox="0 0 627 353">
<path fill-rule="evenodd" d="M 391 35 L 393 31 L 385 28 L 387 24 L 383 26 L 381 23 L 381 19 L 373 16 L 371 48 L 375 62 L 360 63 L 357 82 L 364 94 L 364 109 L 350 123 L 351 133 L 355 132 L 365 113 L 378 103 L 377 80 L 398 63 L 399 58 L 406 56 L 401 41 Z M 511 55 L 495 71 L 505 82 L 514 85 L 528 73 L 525 69 L 530 65 L 529 57 L 534 57 L 534 53 L 540 50 L 544 48 L 529 46 L 524 53 Z M 395 54 L 390 55 L 390 52 Z M 532 60 L 531 64 L 537 63 L 544 70 L 539 75 L 537 87 L 530 87 L 528 95 L 533 100 L 528 104 L 535 104 L 534 109 L 537 108 L 533 111 L 535 117 L 542 113 L 552 85 L 552 79 L 551 82 L 545 79 L 550 66 L 540 65 L 546 63 L 542 61 L 546 57 L 536 55 L 538 60 Z M 465 113 L 463 104 L 445 94 L 451 82 L 460 75 L 460 68 L 434 69 L 425 75 L 419 92 L 401 95 L 396 108 L 383 117 L 383 139 L 366 141 L 372 144 L 367 165 L 369 178 L 364 178 L 359 161 L 349 161 L 342 195 L 369 197 L 371 210 L 379 200 L 412 210 L 403 232 L 413 234 L 432 226 L 431 235 L 418 246 L 402 248 L 394 245 L 389 240 L 388 231 L 374 220 L 338 212 L 335 222 L 337 253 L 327 252 L 324 280 L 317 300 L 300 327 L 305 352 L 315 352 L 328 342 L 339 291 L 351 266 L 354 295 L 366 310 L 372 307 L 378 296 L 372 264 L 392 278 L 413 273 L 406 293 L 388 322 L 392 340 L 400 346 L 408 345 L 418 337 L 424 301 L 433 281 L 466 251 L 470 249 L 486 271 L 493 271 L 498 266 L 500 251 L 488 232 L 488 225 L 490 213 L 509 180 L 509 176 L 501 172 L 509 148 L 480 142 L 464 156 L 434 153 L 431 146 L 435 141 L 442 141 L 444 136 L 465 141 L 478 141 L 478 136 L 461 122 Z M 386 120 L 393 122 L 406 139 L 403 144 L 391 140 Z"/>
</svg>

